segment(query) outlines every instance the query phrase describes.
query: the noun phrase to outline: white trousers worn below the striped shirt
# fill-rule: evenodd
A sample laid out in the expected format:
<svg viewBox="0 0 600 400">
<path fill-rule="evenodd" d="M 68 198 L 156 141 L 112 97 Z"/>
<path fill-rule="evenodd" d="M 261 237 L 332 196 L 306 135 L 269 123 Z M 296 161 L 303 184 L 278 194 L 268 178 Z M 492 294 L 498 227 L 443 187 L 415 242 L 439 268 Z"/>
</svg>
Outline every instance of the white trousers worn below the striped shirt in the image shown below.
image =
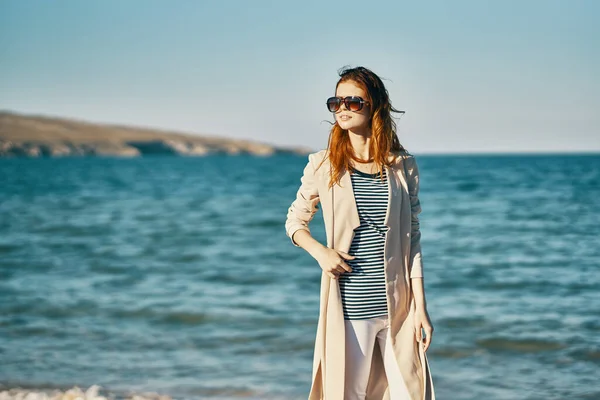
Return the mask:
<svg viewBox="0 0 600 400">
<path fill-rule="evenodd" d="M 379 341 L 390 389 L 390 400 L 410 400 L 410 394 L 394 356 L 388 318 L 383 316 L 371 319 L 345 320 L 344 323 L 346 325 L 344 400 L 365 399 L 375 340 Z"/>
</svg>

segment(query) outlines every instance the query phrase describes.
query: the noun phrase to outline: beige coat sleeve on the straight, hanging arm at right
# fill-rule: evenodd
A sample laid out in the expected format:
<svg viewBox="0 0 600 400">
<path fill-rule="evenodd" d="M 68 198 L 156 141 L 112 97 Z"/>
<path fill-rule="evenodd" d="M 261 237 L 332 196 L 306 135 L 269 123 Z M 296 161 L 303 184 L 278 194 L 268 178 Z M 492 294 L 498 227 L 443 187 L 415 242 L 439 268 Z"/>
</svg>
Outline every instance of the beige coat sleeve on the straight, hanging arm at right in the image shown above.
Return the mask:
<svg viewBox="0 0 600 400">
<path fill-rule="evenodd" d="M 423 259 L 421 254 L 421 229 L 419 214 L 421 213 L 421 202 L 419 201 L 419 166 L 414 156 L 407 160 L 408 170 L 408 192 L 410 197 L 411 209 L 411 229 L 410 229 L 410 277 L 423 277 Z"/>
</svg>

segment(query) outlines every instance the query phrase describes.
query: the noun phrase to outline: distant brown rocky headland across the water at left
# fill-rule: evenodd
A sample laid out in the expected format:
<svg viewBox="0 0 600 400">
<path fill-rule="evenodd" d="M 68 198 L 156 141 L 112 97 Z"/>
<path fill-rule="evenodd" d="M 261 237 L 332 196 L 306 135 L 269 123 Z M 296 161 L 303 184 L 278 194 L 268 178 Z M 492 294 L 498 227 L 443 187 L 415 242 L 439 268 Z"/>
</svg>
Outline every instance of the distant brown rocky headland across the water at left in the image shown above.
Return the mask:
<svg viewBox="0 0 600 400">
<path fill-rule="evenodd" d="M 0 157 L 121 156 L 150 154 L 308 154 L 307 147 L 199 136 L 135 126 L 0 111 Z"/>
</svg>

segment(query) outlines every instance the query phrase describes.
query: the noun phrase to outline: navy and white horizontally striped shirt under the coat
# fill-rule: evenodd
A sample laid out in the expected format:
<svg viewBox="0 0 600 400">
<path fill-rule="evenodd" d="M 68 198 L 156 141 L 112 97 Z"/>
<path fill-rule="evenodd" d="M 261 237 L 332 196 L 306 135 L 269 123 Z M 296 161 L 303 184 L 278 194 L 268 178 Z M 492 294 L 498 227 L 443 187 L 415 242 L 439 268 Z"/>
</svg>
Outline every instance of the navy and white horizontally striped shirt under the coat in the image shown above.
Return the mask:
<svg viewBox="0 0 600 400">
<path fill-rule="evenodd" d="M 367 319 L 387 315 L 384 244 L 388 227 L 384 224 L 388 206 L 388 183 L 385 169 L 381 175 L 353 170 L 350 174 L 360 226 L 346 260 L 352 272 L 339 277 L 344 319 Z"/>
</svg>

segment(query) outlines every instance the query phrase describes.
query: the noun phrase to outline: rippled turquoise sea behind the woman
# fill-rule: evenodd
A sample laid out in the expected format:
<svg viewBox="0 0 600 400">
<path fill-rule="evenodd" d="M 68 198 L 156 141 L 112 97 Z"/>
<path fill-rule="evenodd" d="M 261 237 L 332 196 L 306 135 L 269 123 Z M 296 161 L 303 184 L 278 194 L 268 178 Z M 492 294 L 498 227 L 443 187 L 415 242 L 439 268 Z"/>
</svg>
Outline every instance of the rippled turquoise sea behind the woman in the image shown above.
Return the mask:
<svg viewBox="0 0 600 400">
<path fill-rule="evenodd" d="M 416 157 L 438 399 L 600 399 L 600 154 Z M 305 399 L 305 163 L 0 159 L 0 388 Z"/>
</svg>

